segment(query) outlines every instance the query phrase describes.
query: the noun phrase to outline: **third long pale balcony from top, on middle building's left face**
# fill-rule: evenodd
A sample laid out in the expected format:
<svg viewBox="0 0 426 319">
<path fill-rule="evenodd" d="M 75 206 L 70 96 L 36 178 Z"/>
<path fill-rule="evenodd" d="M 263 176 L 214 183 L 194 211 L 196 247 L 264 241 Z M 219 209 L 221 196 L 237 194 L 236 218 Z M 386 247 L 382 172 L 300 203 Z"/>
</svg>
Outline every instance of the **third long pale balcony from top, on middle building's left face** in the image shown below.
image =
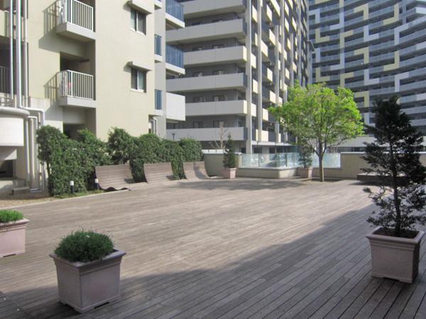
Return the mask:
<svg viewBox="0 0 426 319">
<path fill-rule="evenodd" d="M 185 67 L 199 65 L 222 65 L 247 61 L 247 49 L 244 46 L 222 47 L 219 49 L 185 52 Z"/>
</svg>

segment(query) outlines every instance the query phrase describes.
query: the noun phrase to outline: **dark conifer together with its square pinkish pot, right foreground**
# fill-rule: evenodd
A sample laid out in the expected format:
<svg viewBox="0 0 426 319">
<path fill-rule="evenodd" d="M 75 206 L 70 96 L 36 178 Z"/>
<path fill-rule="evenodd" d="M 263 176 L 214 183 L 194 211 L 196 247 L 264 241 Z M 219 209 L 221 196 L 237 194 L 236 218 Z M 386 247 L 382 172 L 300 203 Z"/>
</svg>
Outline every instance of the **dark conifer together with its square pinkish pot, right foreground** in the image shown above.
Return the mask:
<svg viewBox="0 0 426 319">
<path fill-rule="evenodd" d="M 367 235 L 372 274 L 412 283 L 417 276 L 420 242 L 426 222 L 426 169 L 420 162 L 422 135 L 398 105 L 398 98 L 376 103 L 376 127 L 368 126 L 375 142 L 366 144 L 364 169 L 378 179 L 378 188 L 364 191 L 378 206 L 368 222 L 377 228 Z"/>
</svg>

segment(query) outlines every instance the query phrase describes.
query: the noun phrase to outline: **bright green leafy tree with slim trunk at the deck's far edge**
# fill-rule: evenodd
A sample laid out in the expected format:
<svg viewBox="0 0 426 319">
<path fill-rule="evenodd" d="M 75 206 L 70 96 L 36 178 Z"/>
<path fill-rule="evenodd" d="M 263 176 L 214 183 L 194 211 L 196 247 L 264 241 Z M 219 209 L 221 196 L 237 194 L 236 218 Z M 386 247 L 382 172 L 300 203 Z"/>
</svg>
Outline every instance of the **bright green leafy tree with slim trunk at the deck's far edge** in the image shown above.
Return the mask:
<svg viewBox="0 0 426 319">
<path fill-rule="evenodd" d="M 324 84 L 290 88 L 288 102 L 268 108 L 285 130 L 297 136 L 317 154 L 320 181 L 324 181 L 323 157 L 327 147 L 363 134 L 364 125 L 354 94 L 342 87 L 335 91 Z"/>
</svg>

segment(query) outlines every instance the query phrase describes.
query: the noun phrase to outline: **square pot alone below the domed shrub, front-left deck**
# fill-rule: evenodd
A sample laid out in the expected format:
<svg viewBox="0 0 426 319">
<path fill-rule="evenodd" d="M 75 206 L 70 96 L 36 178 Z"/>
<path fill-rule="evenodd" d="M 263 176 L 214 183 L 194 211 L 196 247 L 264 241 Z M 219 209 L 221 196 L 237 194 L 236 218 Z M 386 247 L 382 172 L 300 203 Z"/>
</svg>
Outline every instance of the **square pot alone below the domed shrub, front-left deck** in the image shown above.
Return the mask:
<svg viewBox="0 0 426 319">
<path fill-rule="evenodd" d="M 61 303 L 84 313 L 120 297 L 120 264 L 126 254 L 114 250 L 94 262 L 68 262 L 50 254 L 56 264 Z"/>
</svg>

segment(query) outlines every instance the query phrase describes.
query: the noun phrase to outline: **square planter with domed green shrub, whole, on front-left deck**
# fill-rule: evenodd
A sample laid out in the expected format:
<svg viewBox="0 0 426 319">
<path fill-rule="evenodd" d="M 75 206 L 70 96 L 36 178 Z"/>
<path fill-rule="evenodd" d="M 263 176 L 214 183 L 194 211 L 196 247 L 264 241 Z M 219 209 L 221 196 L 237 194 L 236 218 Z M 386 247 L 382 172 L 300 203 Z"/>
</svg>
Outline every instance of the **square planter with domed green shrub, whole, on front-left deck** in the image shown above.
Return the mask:
<svg viewBox="0 0 426 319">
<path fill-rule="evenodd" d="M 126 254 L 108 235 L 78 230 L 63 238 L 50 257 L 58 275 L 58 293 L 79 313 L 120 296 L 120 264 Z"/>
</svg>

